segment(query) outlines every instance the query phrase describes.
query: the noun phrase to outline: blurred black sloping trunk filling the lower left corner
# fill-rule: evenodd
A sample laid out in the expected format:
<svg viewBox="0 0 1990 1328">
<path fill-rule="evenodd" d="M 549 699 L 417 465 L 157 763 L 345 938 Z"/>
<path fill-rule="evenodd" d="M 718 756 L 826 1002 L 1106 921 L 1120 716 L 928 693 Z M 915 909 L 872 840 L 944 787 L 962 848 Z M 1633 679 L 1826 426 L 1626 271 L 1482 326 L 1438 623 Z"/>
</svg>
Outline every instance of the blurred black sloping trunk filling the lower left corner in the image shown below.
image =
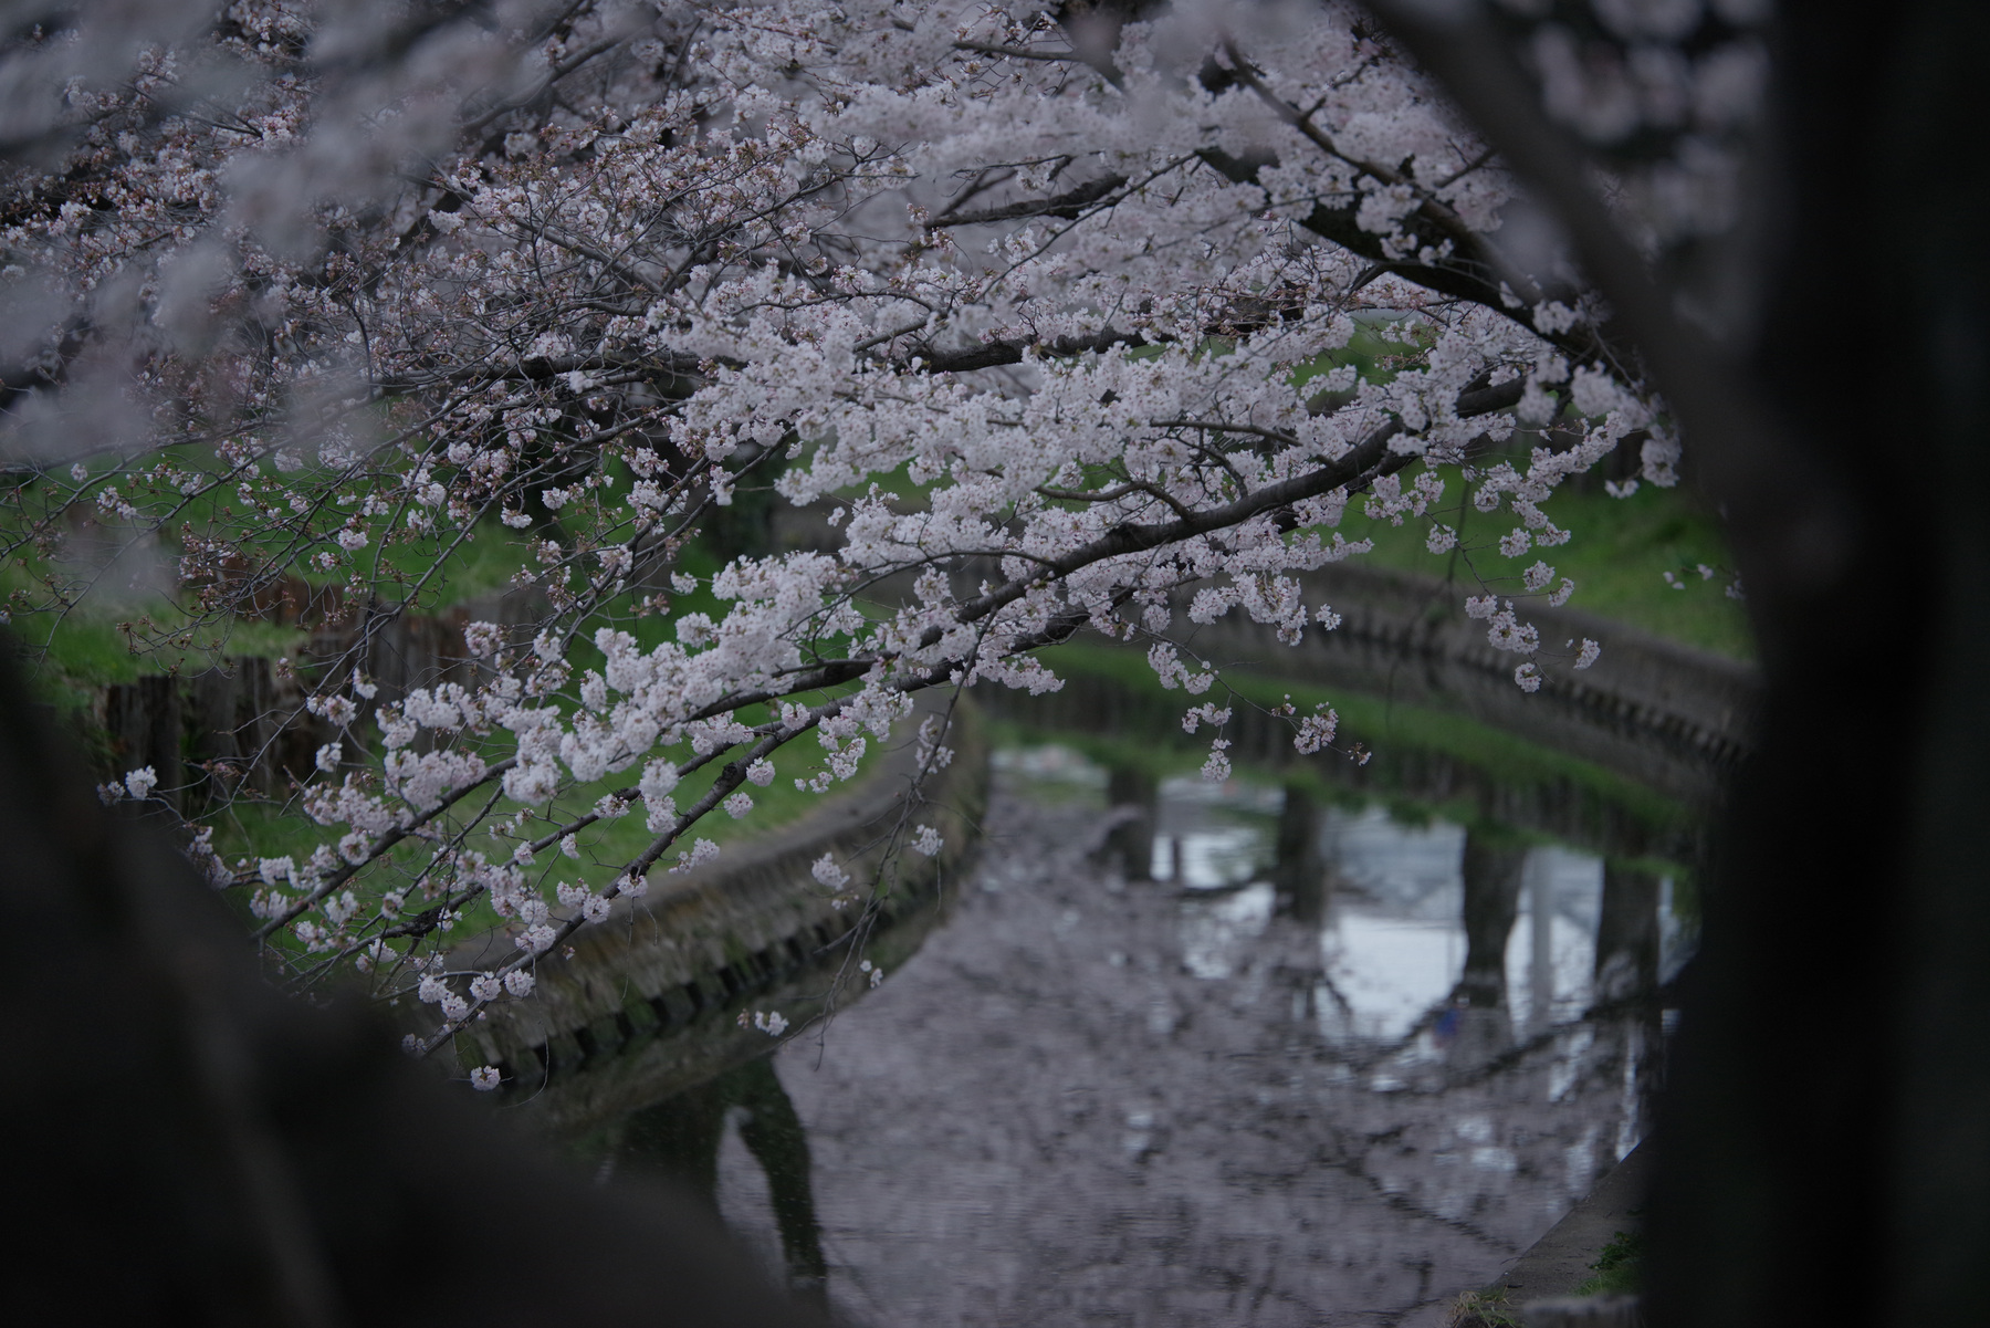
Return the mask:
<svg viewBox="0 0 1990 1328">
<path fill-rule="evenodd" d="M 0 842 L 12 1322 L 820 1322 L 691 1207 L 589 1189 L 360 1009 L 275 994 L 10 657 Z"/>
</svg>

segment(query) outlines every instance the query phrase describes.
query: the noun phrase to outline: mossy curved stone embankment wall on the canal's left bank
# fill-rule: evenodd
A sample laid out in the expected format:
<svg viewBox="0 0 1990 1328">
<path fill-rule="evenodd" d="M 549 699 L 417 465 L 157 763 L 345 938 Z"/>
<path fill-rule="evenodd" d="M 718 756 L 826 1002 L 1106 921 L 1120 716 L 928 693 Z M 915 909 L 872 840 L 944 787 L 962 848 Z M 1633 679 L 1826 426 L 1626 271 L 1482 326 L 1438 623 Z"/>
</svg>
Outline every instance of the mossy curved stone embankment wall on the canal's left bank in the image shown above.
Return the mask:
<svg viewBox="0 0 1990 1328">
<path fill-rule="evenodd" d="M 856 788 L 702 868 L 653 878 L 643 900 L 577 932 L 571 956 L 545 956 L 535 994 L 494 1005 L 458 1037 L 458 1059 L 496 1065 L 535 1125 L 577 1133 L 768 1051 L 766 1033 L 738 1025 L 742 1009 L 800 1025 L 862 996 L 860 958 L 890 972 L 917 948 L 973 860 L 987 804 L 987 741 L 965 705 L 945 739 L 953 761 L 913 784 L 911 737 L 949 697 L 921 701 Z M 917 824 L 941 832 L 937 856 L 907 846 Z M 810 874 L 826 852 L 854 886 L 878 882 L 872 908 L 832 906 Z M 450 970 L 494 968 L 503 946 L 466 946 Z M 402 1013 L 432 1031 L 428 1007 Z"/>
</svg>

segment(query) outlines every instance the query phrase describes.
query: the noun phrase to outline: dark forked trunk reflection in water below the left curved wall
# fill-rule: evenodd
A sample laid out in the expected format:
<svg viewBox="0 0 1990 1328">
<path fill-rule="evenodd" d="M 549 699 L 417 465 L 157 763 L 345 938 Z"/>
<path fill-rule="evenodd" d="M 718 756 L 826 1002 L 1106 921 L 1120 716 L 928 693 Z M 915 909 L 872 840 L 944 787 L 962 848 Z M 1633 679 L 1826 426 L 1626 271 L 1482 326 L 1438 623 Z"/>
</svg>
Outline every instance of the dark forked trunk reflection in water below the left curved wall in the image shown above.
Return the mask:
<svg viewBox="0 0 1990 1328">
<path fill-rule="evenodd" d="M 828 1264 L 810 1189 L 808 1135 L 780 1087 L 772 1057 L 758 1057 L 629 1117 L 623 1149 L 631 1163 L 663 1171 L 718 1213 L 718 1143 L 726 1111 L 740 1109 L 740 1143 L 766 1173 L 780 1228 L 780 1252 L 796 1290 L 822 1292 Z"/>
</svg>

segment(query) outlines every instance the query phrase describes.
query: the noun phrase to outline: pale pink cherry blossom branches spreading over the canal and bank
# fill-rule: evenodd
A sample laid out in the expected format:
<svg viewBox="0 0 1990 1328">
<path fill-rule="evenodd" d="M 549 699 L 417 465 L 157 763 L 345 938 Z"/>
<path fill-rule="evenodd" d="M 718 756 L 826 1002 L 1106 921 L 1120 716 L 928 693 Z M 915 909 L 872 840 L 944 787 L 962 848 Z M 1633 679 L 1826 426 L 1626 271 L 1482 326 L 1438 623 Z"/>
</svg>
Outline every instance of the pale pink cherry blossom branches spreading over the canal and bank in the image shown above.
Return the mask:
<svg viewBox="0 0 1990 1328">
<path fill-rule="evenodd" d="M 1351 8 L 181 20 L 115 78 L 56 82 L 88 30 L 10 52 L 60 86 L 8 183 L 12 615 L 101 575 L 64 557 L 80 504 L 171 553 L 181 613 L 149 643 L 221 635 L 279 575 L 342 585 L 356 639 L 306 699 L 336 737 L 293 794 L 322 844 L 195 852 L 300 978 L 436 1003 L 428 1047 L 655 868 L 708 860 L 704 816 L 852 778 L 917 691 L 1055 687 L 1037 651 L 1094 629 L 1198 695 L 1182 617 L 1331 629 L 1294 573 L 1367 548 L 1335 530 L 1349 502 L 1437 550 L 1447 504 L 1506 512 L 1512 583 L 1469 611 L 1522 689 L 1588 667 L 1596 643 L 1558 657 L 1524 621 L 1576 589 L 1542 504 L 1618 448 L 1678 478 L 1602 305 L 1552 243 L 1508 243 L 1508 171 Z M 681 571 L 742 490 L 832 508 L 840 544 Z M 378 699 L 370 635 L 501 540 L 543 621 L 472 623 L 476 685 Z M 673 611 L 695 593 L 720 611 Z M 1196 715 L 1220 776 L 1220 713 Z M 1331 711 L 1292 723 L 1333 743 Z M 623 816 L 647 848 L 569 866 Z M 515 956 L 424 972 L 484 906 Z"/>
</svg>

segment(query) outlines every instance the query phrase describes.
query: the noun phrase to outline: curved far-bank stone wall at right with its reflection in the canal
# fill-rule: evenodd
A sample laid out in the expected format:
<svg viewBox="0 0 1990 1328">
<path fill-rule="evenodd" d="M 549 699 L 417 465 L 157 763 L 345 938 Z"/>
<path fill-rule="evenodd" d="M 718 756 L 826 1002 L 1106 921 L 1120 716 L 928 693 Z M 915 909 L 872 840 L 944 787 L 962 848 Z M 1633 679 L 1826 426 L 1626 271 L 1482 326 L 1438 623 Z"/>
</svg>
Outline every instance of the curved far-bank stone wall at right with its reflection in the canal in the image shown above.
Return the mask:
<svg viewBox="0 0 1990 1328">
<path fill-rule="evenodd" d="M 1512 765 L 1469 745 L 1425 747 L 1407 733 L 1365 733 L 1347 723 L 1341 743 L 1367 745 L 1373 761 L 1301 759 L 1290 723 L 1252 707 L 1232 707 L 1224 727 L 1234 761 L 1272 769 L 1303 763 L 1309 775 L 1369 796 L 1467 804 L 1483 820 L 1606 858 L 1703 864 L 1703 812 L 1749 745 L 1757 683 L 1747 665 L 1548 609 L 1532 615 L 1544 641 L 1558 647 L 1568 637 L 1592 637 L 1606 643 L 1604 655 L 1586 671 L 1554 665 L 1542 689 L 1528 695 L 1512 681 L 1518 657 L 1487 645 L 1485 623 L 1463 615 L 1453 587 L 1333 567 L 1307 577 L 1305 589 L 1309 603 L 1331 603 L 1341 613 L 1339 629 L 1309 629 L 1294 647 L 1232 611 L 1194 629 L 1188 643 L 1226 669 L 1327 695 L 1353 691 L 1459 713 L 1616 778 L 1582 776 L 1566 763 Z M 1206 749 L 1208 741 L 1182 733 L 1190 703 L 1182 693 L 1071 669 L 1063 689 L 1043 697 L 993 687 L 977 689 L 977 697 L 993 715 L 1039 733 L 1098 733 L 1184 749 Z M 1660 798 L 1636 796 L 1640 790 Z"/>
</svg>

